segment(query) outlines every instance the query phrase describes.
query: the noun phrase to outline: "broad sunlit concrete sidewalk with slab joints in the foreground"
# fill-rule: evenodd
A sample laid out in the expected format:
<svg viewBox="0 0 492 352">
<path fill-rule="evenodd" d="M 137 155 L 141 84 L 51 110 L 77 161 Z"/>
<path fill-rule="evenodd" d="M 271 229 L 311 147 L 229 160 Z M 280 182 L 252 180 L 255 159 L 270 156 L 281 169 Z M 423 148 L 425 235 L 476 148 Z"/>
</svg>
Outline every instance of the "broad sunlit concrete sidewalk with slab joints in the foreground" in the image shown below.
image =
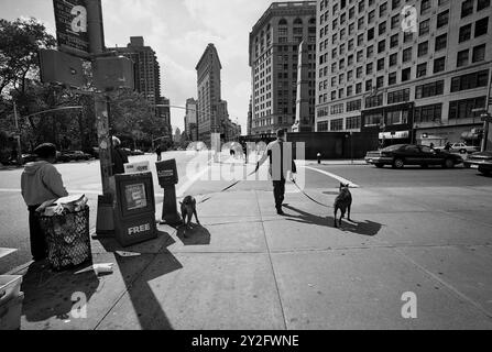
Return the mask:
<svg viewBox="0 0 492 352">
<path fill-rule="evenodd" d="M 22 329 L 492 329 L 489 190 L 422 200 L 428 190 L 354 189 L 357 222 L 342 230 L 300 194 L 287 195 L 287 217 L 271 193 L 214 195 L 188 239 L 160 227 L 158 239 L 129 249 L 94 241 L 95 263 L 114 263 L 111 275 L 22 271 Z M 308 193 L 328 205 L 336 196 Z M 70 315 L 77 292 L 85 319 Z M 406 292 L 418 319 L 402 318 Z"/>
</svg>

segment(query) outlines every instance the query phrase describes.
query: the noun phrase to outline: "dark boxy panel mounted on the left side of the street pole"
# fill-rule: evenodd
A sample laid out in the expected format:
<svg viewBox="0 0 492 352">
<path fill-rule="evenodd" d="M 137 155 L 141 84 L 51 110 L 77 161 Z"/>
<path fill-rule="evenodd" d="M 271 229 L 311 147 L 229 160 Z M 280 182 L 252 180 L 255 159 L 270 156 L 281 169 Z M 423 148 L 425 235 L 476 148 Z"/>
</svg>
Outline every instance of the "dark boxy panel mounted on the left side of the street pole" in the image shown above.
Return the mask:
<svg viewBox="0 0 492 352">
<path fill-rule="evenodd" d="M 41 81 L 80 88 L 85 85 L 83 59 L 54 50 L 40 51 Z"/>
</svg>

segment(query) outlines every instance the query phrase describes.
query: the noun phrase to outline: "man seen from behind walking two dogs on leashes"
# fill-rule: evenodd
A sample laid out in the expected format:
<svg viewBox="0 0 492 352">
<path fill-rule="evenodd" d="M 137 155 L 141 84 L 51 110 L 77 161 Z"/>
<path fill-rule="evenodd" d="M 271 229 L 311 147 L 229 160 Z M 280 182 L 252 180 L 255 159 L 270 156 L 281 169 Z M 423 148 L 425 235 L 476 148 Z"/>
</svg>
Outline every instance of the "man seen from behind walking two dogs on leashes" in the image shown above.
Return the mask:
<svg viewBox="0 0 492 352">
<path fill-rule="evenodd" d="M 285 130 L 278 130 L 276 132 L 276 141 L 270 143 L 266 147 L 266 153 L 263 154 L 263 157 L 258 162 L 256 169 L 258 172 L 266 160 L 270 160 L 270 175 L 273 180 L 273 196 L 275 198 L 275 208 L 276 212 L 280 216 L 284 216 L 284 211 L 282 210 L 282 206 L 285 199 L 285 180 L 288 172 L 293 174 L 297 174 L 297 167 L 294 162 L 294 158 L 289 157 L 291 161 L 284 160 L 284 154 L 286 152 L 285 143 L 286 143 L 286 133 Z M 287 162 L 287 163 L 286 163 Z M 294 176 L 292 177 L 294 182 Z"/>
</svg>

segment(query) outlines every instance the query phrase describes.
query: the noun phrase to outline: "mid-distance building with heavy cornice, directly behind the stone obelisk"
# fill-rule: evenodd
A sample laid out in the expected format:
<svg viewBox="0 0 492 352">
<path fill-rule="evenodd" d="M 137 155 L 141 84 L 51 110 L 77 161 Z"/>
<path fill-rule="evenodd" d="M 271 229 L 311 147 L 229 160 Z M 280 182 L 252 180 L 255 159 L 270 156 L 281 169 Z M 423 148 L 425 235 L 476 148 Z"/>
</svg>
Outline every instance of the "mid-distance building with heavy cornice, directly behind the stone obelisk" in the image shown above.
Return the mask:
<svg viewBox="0 0 492 352">
<path fill-rule="evenodd" d="M 274 2 L 250 33 L 251 134 L 291 131 L 296 118 L 298 46 L 306 43 L 309 119 L 316 94 L 316 2 Z"/>
</svg>

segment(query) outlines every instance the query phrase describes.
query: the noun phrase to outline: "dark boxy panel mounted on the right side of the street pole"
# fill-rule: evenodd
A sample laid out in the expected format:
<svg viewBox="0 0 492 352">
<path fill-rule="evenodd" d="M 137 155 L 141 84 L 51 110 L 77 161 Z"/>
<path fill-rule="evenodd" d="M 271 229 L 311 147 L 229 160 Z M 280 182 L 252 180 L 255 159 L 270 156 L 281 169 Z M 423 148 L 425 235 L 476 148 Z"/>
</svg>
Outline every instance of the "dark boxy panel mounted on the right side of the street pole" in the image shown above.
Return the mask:
<svg viewBox="0 0 492 352">
<path fill-rule="evenodd" d="M 133 62 L 124 56 L 96 58 L 94 85 L 101 91 L 119 88 L 134 90 Z"/>
</svg>

